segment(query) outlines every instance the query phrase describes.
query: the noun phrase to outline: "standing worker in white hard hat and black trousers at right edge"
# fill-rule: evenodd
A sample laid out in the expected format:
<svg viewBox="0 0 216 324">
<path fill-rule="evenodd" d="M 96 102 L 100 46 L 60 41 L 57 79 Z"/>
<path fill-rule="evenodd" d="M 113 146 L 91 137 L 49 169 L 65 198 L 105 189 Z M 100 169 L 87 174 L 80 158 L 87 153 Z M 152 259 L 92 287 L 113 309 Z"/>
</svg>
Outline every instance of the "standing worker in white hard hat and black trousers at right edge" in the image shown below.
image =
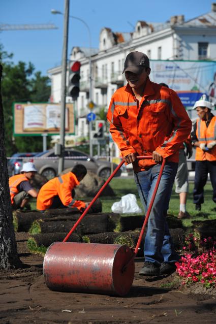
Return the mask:
<svg viewBox="0 0 216 324">
<path fill-rule="evenodd" d="M 193 196 L 196 210 L 200 211 L 208 173 L 213 187 L 212 200 L 216 203 L 216 116 L 211 113 L 214 104 L 207 101 L 205 94 L 196 101 L 193 109 L 196 109 L 199 117 L 191 133 L 192 144 L 196 148 Z"/>
</svg>

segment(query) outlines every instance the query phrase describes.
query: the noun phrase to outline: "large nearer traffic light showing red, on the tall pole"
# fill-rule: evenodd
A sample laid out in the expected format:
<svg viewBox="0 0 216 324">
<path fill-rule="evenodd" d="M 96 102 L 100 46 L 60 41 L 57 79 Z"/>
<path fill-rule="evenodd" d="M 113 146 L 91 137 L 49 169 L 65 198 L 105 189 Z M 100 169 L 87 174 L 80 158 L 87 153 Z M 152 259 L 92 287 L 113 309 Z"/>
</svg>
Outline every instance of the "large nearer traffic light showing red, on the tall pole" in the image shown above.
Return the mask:
<svg viewBox="0 0 216 324">
<path fill-rule="evenodd" d="M 80 67 L 81 63 L 79 61 L 69 62 L 68 95 L 73 100 L 77 100 L 79 96 Z"/>
</svg>

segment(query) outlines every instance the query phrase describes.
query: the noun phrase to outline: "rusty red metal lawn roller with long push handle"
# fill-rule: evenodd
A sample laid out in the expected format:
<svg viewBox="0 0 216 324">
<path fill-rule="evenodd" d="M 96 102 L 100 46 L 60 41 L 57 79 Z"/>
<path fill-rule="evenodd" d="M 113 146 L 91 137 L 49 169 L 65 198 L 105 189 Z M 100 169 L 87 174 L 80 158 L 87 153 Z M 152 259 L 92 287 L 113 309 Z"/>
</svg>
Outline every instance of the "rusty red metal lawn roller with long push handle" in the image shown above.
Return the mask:
<svg viewBox="0 0 216 324">
<path fill-rule="evenodd" d="M 152 159 L 152 156 L 137 156 L 137 158 Z M 67 242 L 77 225 L 122 164 L 124 164 L 124 160 L 121 161 L 101 187 L 64 241 L 54 242 L 47 249 L 44 257 L 43 273 L 45 283 L 49 289 L 118 296 L 124 296 L 130 290 L 134 280 L 134 258 L 138 252 L 145 225 L 155 200 L 165 159 L 135 249 L 131 249 L 127 245 Z"/>
</svg>

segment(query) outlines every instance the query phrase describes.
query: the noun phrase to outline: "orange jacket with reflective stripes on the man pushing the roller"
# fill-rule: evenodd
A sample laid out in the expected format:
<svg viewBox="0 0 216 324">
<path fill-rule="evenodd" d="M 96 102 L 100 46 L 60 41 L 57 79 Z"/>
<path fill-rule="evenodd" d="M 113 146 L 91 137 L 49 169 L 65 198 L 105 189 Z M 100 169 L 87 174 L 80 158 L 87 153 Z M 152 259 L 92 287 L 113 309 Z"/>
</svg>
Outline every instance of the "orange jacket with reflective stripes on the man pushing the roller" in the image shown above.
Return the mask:
<svg viewBox="0 0 216 324">
<path fill-rule="evenodd" d="M 192 122 L 175 91 L 153 83 L 147 77 L 140 104 L 129 84 L 112 96 L 107 113 L 110 133 L 122 156 L 130 153 L 160 153 L 178 163 L 181 144 L 188 138 Z M 133 163 L 135 172 L 155 165 L 154 160 Z"/>
</svg>

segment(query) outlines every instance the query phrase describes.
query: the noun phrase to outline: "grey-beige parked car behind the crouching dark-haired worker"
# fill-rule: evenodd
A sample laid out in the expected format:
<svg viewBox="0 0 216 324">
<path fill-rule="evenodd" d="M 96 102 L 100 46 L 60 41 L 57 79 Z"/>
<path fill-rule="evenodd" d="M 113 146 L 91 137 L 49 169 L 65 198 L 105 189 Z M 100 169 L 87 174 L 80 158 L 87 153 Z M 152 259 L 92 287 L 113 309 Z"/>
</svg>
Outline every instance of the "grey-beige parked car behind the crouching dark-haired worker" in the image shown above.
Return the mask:
<svg viewBox="0 0 216 324">
<path fill-rule="evenodd" d="M 58 173 L 58 156 L 54 150 L 41 152 L 34 156 L 33 163 L 40 174 L 47 179 L 54 178 Z M 111 164 L 109 161 L 95 159 L 88 154 L 74 149 L 65 150 L 64 168 L 73 168 L 76 164 L 83 164 L 88 171 L 92 171 L 102 178 L 108 178 L 111 170 L 114 170 L 117 165 Z M 115 176 L 120 176 L 121 170 L 118 170 Z"/>
</svg>

